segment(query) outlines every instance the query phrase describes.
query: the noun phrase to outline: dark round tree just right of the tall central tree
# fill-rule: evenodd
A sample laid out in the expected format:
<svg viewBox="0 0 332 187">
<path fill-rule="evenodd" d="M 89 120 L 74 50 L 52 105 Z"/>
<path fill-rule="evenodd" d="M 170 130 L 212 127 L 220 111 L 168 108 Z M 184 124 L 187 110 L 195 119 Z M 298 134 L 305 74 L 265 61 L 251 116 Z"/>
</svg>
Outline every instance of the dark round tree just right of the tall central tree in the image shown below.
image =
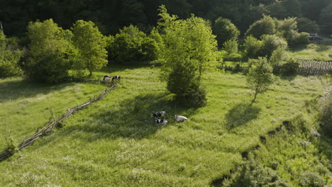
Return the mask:
<svg viewBox="0 0 332 187">
<path fill-rule="evenodd" d="M 240 31 L 236 26 L 227 18 L 218 18 L 214 23 L 214 34 L 218 41 L 218 46 L 224 45 L 227 40 L 238 40 Z"/>
</svg>

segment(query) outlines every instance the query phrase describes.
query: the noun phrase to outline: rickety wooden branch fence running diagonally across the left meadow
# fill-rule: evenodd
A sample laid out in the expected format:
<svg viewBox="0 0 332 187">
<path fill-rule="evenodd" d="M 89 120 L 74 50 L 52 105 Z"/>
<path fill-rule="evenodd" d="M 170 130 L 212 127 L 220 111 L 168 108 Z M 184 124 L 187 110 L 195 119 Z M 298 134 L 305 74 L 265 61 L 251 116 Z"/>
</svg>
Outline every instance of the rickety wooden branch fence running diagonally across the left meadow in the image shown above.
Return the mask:
<svg viewBox="0 0 332 187">
<path fill-rule="evenodd" d="M 47 125 L 45 125 L 44 128 L 38 130 L 38 132 L 35 132 L 35 134 L 33 136 L 28 137 L 26 140 L 23 140 L 23 142 L 21 142 L 21 144 L 18 145 L 18 147 L 15 151 L 5 150 L 4 152 L 1 152 L 0 153 L 0 162 L 11 157 L 11 155 L 13 155 L 15 152 L 18 152 L 19 150 L 23 149 L 24 147 L 28 147 L 33 142 L 35 142 L 35 140 L 37 140 L 39 137 L 43 137 L 46 134 L 48 134 L 49 132 L 51 132 L 56 127 L 56 125 L 58 123 L 60 123 L 60 121 L 65 120 L 65 118 L 67 118 L 68 116 L 76 113 L 77 111 L 82 110 L 83 108 L 91 105 L 92 103 L 94 103 L 96 101 L 101 100 L 102 98 L 104 98 L 104 96 L 106 96 L 106 94 L 109 93 L 109 91 L 116 89 L 116 86 L 117 86 L 117 83 L 112 82 L 111 86 L 108 89 L 106 89 L 103 93 L 101 93 L 98 97 L 92 98 L 89 101 L 87 101 L 86 103 L 83 103 L 79 106 L 67 108 L 67 113 L 62 115 L 60 118 L 57 118 L 57 120 L 53 121 L 52 123 L 48 123 Z"/>
</svg>

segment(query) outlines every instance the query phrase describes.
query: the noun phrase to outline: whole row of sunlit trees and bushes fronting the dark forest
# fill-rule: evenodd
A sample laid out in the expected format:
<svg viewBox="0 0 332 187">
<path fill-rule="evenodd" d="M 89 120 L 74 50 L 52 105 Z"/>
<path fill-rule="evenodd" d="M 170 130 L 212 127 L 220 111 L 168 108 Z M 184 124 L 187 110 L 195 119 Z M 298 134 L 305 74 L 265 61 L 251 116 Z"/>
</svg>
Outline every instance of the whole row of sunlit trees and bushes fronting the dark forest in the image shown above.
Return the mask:
<svg viewBox="0 0 332 187">
<path fill-rule="evenodd" d="M 309 33 L 299 32 L 297 18 L 264 15 L 249 26 L 245 40 L 240 41 L 240 31 L 227 18 L 211 23 L 192 14 L 183 19 L 169 13 L 165 5 L 157 11 L 157 26 L 149 33 L 129 25 L 115 35 L 103 35 L 92 21 L 78 20 L 70 29 L 63 29 L 48 19 L 29 22 L 28 45 L 20 47 L 18 39 L 0 32 L 0 77 L 24 72 L 31 79 L 56 84 L 91 77 L 109 60 L 157 60 L 170 98 L 202 105 L 206 91 L 201 77 L 207 69 L 216 69 L 223 60 L 248 60 L 248 84 L 256 98 L 272 84 L 273 68 L 284 66 L 292 71 L 299 66 L 287 57 L 287 47 L 309 43 Z"/>
</svg>

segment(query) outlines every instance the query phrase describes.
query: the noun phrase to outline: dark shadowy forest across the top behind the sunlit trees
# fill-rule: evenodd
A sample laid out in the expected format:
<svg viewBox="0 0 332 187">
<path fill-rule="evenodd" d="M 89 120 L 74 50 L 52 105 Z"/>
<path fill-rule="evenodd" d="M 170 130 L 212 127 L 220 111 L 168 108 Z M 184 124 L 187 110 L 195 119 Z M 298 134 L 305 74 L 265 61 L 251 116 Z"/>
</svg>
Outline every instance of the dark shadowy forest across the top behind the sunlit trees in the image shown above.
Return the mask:
<svg viewBox="0 0 332 187">
<path fill-rule="evenodd" d="M 179 18 L 189 18 L 191 13 L 212 23 L 219 17 L 228 18 L 238 27 L 242 35 L 253 22 L 262 18 L 263 14 L 278 19 L 306 18 L 319 24 L 319 33 L 331 34 L 331 2 L 331 0 L 1 0 L 0 21 L 3 23 L 4 34 L 9 36 L 26 33 L 29 21 L 44 21 L 49 18 L 65 29 L 80 19 L 93 21 L 104 35 L 114 35 L 119 28 L 129 24 L 138 26 L 140 30 L 150 31 L 150 28 L 157 23 L 158 6 L 165 4 L 167 10 Z M 306 28 L 305 23 L 304 28 Z"/>
</svg>

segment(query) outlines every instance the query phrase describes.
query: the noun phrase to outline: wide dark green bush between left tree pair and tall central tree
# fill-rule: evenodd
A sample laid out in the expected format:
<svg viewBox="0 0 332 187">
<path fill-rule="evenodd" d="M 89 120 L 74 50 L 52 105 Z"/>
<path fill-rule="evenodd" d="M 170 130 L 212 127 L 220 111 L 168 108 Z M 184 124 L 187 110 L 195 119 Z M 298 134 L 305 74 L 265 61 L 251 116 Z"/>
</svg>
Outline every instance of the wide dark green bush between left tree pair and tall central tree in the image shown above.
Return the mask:
<svg viewBox="0 0 332 187">
<path fill-rule="evenodd" d="M 142 62 L 155 60 L 157 43 L 149 38 L 138 27 L 123 27 L 109 43 L 111 58 L 116 62 Z"/>
</svg>

